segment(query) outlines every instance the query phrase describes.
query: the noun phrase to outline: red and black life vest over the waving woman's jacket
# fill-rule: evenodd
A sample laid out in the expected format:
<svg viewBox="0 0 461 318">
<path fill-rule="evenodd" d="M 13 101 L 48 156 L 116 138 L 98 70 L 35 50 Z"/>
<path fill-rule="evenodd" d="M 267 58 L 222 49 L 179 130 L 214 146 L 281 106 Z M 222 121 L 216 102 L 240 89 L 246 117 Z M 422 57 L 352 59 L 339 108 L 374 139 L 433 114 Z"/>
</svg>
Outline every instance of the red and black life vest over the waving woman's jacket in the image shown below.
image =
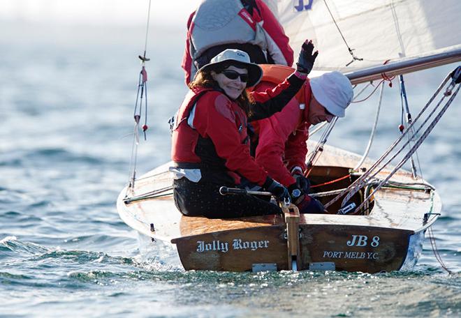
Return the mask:
<svg viewBox="0 0 461 318">
<path fill-rule="evenodd" d="M 196 129 L 189 125 L 193 107 L 198 99 L 209 91 L 210 88 L 196 88 L 190 90 L 182 105 L 175 115 L 172 130 L 171 158 L 175 166 L 182 169 L 200 169 L 203 181 L 214 183 L 235 184 L 240 183 L 240 176 L 229 171 L 225 160 L 217 155 L 217 151 L 210 138 L 202 137 Z M 234 111 L 237 129 L 240 131 L 242 144 L 249 143 L 247 135 L 247 116 L 240 107 L 235 106 Z"/>
</svg>

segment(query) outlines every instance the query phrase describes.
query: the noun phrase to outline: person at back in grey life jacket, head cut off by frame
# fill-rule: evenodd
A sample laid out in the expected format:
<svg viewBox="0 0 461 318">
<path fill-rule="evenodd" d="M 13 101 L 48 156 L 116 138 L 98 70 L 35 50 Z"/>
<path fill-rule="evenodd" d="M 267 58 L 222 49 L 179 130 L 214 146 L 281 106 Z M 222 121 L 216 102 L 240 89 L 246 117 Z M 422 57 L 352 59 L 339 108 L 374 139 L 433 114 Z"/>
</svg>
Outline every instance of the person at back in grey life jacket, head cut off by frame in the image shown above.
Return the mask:
<svg viewBox="0 0 461 318">
<path fill-rule="evenodd" d="M 226 49 L 247 52 L 253 63 L 293 64 L 288 37 L 263 0 L 205 0 L 191 13 L 182 68 L 186 84 Z"/>
</svg>

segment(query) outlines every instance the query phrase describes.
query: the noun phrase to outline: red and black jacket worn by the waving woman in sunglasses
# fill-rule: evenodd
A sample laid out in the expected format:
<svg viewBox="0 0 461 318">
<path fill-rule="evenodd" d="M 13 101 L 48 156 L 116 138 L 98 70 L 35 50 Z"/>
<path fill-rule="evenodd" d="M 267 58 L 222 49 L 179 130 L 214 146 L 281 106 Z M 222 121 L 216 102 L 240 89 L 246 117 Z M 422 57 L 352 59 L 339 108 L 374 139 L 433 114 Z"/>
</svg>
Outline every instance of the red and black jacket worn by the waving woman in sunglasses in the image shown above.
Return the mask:
<svg viewBox="0 0 461 318">
<path fill-rule="evenodd" d="M 263 185 L 268 173 L 250 156 L 247 121 L 279 112 L 295 96 L 303 82 L 291 75 L 273 89 L 252 92 L 256 103 L 251 105 L 249 119 L 237 103 L 221 91 L 190 91 L 176 118 L 172 160 L 180 167 L 203 168 L 203 174 L 211 171 L 230 174 L 235 183 L 240 183 L 240 176 L 244 176 Z M 199 94 L 200 98 L 196 100 Z M 196 167 L 191 164 L 196 164 Z"/>
</svg>

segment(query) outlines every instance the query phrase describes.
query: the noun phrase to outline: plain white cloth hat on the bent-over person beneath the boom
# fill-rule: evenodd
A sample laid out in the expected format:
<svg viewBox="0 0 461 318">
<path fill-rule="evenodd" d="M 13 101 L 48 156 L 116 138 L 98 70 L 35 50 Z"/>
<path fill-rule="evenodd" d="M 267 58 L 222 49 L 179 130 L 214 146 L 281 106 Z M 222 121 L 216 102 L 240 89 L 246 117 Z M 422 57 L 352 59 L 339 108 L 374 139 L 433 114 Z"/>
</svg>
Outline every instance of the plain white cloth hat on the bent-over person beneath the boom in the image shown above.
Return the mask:
<svg viewBox="0 0 461 318">
<path fill-rule="evenodd" d="M 315 99 L 331 114 L 344 117 L 346 107 L 353 98 L 352 84 L 349 79 L 337 71 L 325 73 L 310 79 Z"/>
</svg>

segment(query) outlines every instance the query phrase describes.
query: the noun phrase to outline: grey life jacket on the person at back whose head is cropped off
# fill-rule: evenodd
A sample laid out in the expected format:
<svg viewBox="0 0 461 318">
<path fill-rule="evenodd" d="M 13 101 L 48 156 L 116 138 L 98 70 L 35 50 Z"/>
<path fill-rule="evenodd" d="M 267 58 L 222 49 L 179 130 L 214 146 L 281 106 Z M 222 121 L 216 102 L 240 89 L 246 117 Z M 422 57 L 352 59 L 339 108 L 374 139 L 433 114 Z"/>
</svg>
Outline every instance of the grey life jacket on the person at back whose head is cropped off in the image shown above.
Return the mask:
<svg viewBox="0 0 461 318">
<path fill-rule="evenodd" d="M 266 52 L 265 32 L 259 22 L 240 0 L 203 1 L 189 27 L 193 61 L 210 47 L 228 43 L 258 45 L 262 52 Z"/>
</svg>

